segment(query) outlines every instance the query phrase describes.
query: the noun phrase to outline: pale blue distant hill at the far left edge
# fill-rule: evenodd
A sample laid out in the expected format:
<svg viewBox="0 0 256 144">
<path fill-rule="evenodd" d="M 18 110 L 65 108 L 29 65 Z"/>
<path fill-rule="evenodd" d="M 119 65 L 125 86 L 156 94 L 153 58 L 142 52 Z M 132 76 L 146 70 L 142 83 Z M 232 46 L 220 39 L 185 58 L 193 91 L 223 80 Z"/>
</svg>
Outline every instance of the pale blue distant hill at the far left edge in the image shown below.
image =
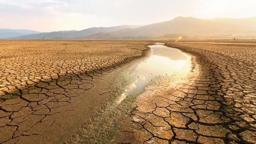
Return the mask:
<svg viewBox="0 0 256 144">
<path fill-rule="evenodd" d="M 39 31 L 27 30 L 27 29 L 0 29 L 0 39 L 19 37 L 21 35 L 42 33 Z"/>
</svg>

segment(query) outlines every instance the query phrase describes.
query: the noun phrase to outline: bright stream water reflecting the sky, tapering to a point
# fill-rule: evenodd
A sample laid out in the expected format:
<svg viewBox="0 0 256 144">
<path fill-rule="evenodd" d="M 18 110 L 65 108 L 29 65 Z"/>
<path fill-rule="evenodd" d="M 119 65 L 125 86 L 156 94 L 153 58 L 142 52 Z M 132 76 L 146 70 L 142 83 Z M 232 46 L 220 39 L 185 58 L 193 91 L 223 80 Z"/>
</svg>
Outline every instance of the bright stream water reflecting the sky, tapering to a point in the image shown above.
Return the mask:
<svg viewBox="0 0 256 144">
<path fill-rule="evenodd" d="M 128 86 L 117 100 L 117 104 L 126 96 L 141 92 L 155 77 L 170 76 L 185 65 L 186 59 L 188 58 L 187 55 L 163 44 L 156 43 L 156 45 L 149 46 L 152 51 L 151 57 L 137 66 L 135 81 Z"/>
</svg>

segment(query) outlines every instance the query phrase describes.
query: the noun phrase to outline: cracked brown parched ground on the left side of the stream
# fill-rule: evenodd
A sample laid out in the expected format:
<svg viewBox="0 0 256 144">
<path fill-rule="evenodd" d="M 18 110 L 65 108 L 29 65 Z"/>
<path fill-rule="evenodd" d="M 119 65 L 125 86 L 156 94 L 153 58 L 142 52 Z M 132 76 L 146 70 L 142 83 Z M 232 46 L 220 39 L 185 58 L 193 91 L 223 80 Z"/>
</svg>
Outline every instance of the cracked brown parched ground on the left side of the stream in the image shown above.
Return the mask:
<svg viewBox="0 0 256 144">
<path fill-rule="evenodd" d="M 102 76 L 142 57 L 146 44 L 1 40 L 0 143 L 62 143 L 108 100 L 99 93 L 112 80 Z"/>
</svg>

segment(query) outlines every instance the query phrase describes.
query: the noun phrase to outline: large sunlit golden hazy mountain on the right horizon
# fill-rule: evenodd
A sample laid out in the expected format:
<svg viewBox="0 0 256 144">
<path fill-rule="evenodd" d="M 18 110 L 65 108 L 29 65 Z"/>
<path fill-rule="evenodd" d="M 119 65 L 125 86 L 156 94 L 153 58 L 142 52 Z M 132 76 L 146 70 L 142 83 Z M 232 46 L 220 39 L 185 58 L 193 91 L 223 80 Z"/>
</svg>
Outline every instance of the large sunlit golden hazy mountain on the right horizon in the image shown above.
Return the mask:
<svg viewBox="0 0 256 144">
<path fill-rule="evenodd" d="M 109 33 L 97 33 L 81 39 L 141 39 L 163 38 L 166 35 L 182 33 L 187 36 L 213 35 L 256 35 L 256 17 L 198 19 L 176 17 L 169 21 L 127 28 Z"/>
</svg>

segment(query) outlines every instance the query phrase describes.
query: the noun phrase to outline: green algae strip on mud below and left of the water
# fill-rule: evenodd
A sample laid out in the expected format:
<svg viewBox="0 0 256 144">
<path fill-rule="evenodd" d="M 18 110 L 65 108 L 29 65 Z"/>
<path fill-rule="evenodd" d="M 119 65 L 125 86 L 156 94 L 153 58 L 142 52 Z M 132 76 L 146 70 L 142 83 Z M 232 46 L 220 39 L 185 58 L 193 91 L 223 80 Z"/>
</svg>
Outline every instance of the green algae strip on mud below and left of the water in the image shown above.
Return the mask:
<svg viewBox="0 0 256 144">
<path fill-rule="evenodd" d="M 130 68 L 134 67 L 131 65 Z M 132 102 L 137 98 L 136 95 L 130 95 L 122 101 L 121 104 L 116 104 L 117 96 L 120 96 L 129 85 L 132 79 L 131 70 L 121 70 L 114 72 L 115 83 L 111 84 L 112 89 L 110 95 L 115 97 L 110 103 L 102 107 L 102 111 L 95 114 L 91 120 L 82 126 L 82 130 L 77 133 L 80 143 L 109 143 L 116 135 L 116 131 L 120 128 L 122 120 L 131 110 Z M 104 97 L 102 95 L 102 97 Z M 72 140 L 77 141 L 77 140 Z"/>
</svg>

